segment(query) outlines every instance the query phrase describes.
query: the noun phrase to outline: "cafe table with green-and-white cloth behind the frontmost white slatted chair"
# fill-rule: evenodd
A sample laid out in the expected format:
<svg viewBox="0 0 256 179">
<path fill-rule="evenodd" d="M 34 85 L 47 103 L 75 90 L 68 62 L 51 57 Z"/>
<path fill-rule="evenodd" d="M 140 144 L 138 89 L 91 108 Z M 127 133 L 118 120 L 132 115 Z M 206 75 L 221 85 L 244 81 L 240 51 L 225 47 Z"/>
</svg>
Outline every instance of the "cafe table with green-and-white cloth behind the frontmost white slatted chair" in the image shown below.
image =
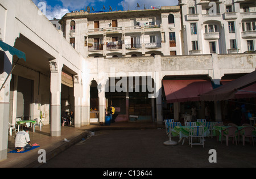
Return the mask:
<svg viewBox="0 0 256 179">
<path fill-rule="evenodd" d="M 191 131 L 191 127 L 195 127 L 195 126 L 175 126 L 171 131 L 172 136 L 179 137 L 180 138 L 179 142 L 181 142 L 183 138 L 189 137 L 189 131 Z M 210 130 L 208 129 L 208 127 L 204 126 L 204 137 L 209 137 L 209 135 L 210 135 Z"/>
</svg>

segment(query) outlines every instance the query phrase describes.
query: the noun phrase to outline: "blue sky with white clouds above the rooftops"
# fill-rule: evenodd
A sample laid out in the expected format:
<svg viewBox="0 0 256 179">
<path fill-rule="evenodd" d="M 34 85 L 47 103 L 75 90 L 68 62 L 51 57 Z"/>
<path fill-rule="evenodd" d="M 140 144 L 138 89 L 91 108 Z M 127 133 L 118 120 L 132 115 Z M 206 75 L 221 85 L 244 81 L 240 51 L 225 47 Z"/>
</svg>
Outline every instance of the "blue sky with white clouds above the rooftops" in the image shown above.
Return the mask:
<svg viewBox="0 0 256 179">
<path fill-rule="evenodd" d="M 106 7 L 105 11 L 109 11 L 109 6 L 113 11 L 116 10 L 136 10 L 151 8 L 151 6 L 175 6 L 178 0 L 32 0 L 36 6 L 39 2 L 46 3 L 46 16 L 48 19 L 60 19 L 67 12 L 85 10 L 86 6 L 94 8 L 95 11 L 101 11 L 103 6 Z M 140 8 L 137 7 L 139 3 Z"/>
</svg>

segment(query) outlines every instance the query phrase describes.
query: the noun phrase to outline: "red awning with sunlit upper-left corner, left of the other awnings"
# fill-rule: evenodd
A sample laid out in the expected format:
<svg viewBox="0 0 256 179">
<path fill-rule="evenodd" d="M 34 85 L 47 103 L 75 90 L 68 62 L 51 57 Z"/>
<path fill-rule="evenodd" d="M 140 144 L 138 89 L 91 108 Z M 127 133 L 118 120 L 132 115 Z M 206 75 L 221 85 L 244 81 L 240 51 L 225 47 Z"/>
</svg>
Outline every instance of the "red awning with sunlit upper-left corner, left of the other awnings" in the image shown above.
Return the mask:
<svg viewBox="0 0 256 179">
<path fill-rule="evenodd" d="M 213 90 L 210 80 L 163 80 L 167 103 L 200 101 L 203 93 Z"/>
</svg>

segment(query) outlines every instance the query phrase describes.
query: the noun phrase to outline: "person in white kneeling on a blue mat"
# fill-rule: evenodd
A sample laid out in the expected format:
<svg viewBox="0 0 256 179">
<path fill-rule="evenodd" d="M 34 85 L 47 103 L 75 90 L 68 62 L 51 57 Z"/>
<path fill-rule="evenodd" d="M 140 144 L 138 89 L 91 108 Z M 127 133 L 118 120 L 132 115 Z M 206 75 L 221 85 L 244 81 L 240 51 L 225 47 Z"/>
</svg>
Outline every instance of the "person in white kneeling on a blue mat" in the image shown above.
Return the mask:
<svg viewBox="0 0 256 179">
<path fill-rule="evenodd" d="M 15 148 L 17 152 L 31 150 L 32 144 L 30 143 L 30 135 L 28 134 L 28 127 L 23 127 L 15 137 Z"/>
</svg>

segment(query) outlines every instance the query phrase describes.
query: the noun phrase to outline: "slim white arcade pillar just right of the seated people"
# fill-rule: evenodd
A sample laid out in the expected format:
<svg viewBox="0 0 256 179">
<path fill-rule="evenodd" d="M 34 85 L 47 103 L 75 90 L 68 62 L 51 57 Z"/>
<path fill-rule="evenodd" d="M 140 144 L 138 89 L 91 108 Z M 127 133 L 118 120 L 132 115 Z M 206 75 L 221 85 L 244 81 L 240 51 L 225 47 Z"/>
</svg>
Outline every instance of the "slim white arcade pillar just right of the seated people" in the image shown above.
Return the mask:
<svg viewBox="0 0 256 179">
<path fill-rule="evenodd" d="M 75 127 L 81 127 L 81 95 L 79 75 L 75 75 L 74 79 L 74 96 L 75 96 Z"/>
</svg>

